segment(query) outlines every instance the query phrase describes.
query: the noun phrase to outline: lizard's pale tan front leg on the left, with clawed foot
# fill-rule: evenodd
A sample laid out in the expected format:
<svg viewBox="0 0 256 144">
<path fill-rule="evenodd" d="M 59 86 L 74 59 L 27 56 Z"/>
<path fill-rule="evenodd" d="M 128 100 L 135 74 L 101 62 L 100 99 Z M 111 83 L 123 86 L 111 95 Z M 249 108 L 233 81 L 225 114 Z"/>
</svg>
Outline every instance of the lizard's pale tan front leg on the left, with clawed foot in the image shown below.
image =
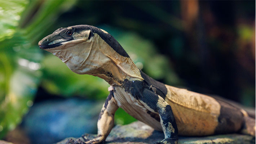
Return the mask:
<svg viewBox="0 0 256 144">
<path fill-rule="evenodd" d="M 117 109 L 118 105 L 115 103 L 113 90 L 111 90 L 109 96 L 106 99 L 106 102 L 103 104 L 100 115 L 98 117 L 97 137 L 92 140 L 88 140 L 85 136 L 83 136 L 85 142 L 81 141 L 80 139 L 69 139 L 66 144 L 98 144 L 104 141 L 114 126 L 114 114 Z"/>
</svg>

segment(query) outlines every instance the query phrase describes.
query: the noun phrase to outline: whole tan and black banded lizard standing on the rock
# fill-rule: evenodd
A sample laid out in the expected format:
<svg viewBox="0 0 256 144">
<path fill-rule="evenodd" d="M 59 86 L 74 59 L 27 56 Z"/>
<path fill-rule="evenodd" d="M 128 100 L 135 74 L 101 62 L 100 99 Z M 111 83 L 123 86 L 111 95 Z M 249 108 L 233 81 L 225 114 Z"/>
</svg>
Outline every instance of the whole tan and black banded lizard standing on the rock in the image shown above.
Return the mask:
<svg viewBox="0 0 256 144">
<path fill-rule="evenodd" d="M 154 80 L 133 63 L 122 46 L 100 28 L 77 25 L 59 28 L 39 42 L 78 74 L 103 78 L 110 94 L 98 118 L 98 136 L 93 140 L 70 139 L 69 143 L 97 144 L 114 126 L 115 111 L 125 112 L 176 144 L 179 135 L 204 136 L 242 132 L 255 136 L 255 119 L 243 110 L 207 95 L 179 89 Z"/>
</svg>

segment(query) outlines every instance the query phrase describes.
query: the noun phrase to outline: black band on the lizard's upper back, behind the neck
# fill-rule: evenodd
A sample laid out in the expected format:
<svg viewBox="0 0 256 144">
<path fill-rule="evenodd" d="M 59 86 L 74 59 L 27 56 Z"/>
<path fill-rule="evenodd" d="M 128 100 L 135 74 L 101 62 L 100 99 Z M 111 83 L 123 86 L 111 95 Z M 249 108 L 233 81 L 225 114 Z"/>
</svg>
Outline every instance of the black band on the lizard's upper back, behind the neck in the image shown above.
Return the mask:
<svg viewBox="0 0 256 144">
<path fill-rule="evenodd" d="M 141 72 L 142 78 L 144 78 L 144 81 L 149 85 L 155 88 L 155 93 L 160 95 L 163 99 L 165 99 L 165 96 L 167 94 L 167 88 L 162 82 L 156 81 L 153 78 L 146 75 L 144 72 Z"/>
</svg>

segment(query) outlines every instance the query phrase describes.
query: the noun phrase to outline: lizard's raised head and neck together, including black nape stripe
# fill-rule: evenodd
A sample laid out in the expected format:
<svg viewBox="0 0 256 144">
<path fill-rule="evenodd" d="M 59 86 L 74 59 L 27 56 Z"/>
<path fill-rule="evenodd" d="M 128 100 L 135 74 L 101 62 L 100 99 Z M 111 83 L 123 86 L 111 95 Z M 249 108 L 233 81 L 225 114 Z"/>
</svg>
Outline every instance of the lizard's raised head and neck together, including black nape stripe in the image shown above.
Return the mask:
<svg viewBox="0 0 256 144">
<path fill-rule="evenodd" d="M 114 37 L 94 26 L 59 28 L 39 41 L 38 45 L 56 55 L 78 74 L 105 79 L 105 75 L 122 71 L 131 77 L 141 77 L 136 74 L 139 69 Z M 116 77 L 120 79 L 121 76 Z"/>
</svg>

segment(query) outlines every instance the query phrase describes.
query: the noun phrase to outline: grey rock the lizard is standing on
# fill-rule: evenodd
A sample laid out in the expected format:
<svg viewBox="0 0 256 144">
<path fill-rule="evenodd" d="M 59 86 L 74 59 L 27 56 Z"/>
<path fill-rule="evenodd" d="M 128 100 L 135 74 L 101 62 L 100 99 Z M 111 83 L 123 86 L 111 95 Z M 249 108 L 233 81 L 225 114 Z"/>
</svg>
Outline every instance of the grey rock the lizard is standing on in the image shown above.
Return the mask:
<svg viewBox="0 0 256 144">
<path fill-rule="evenodd" d="M 96 135 L 85 134 L 88 139 Z M 142 122 L 133 122 L 129 125 L 115 126 L 107 137 L 108 144 L 152 144 L 164 138 L 163 132 L 155 131 Z M 67 139 L 57 144 L 65 144 Z M 83 140 L 80 137 L 81 140 Z M 255 144 L 255 137 L 241 134 L 213 135 L 203 137 L 179 137 L 179 144 Z"/>
</svg>

